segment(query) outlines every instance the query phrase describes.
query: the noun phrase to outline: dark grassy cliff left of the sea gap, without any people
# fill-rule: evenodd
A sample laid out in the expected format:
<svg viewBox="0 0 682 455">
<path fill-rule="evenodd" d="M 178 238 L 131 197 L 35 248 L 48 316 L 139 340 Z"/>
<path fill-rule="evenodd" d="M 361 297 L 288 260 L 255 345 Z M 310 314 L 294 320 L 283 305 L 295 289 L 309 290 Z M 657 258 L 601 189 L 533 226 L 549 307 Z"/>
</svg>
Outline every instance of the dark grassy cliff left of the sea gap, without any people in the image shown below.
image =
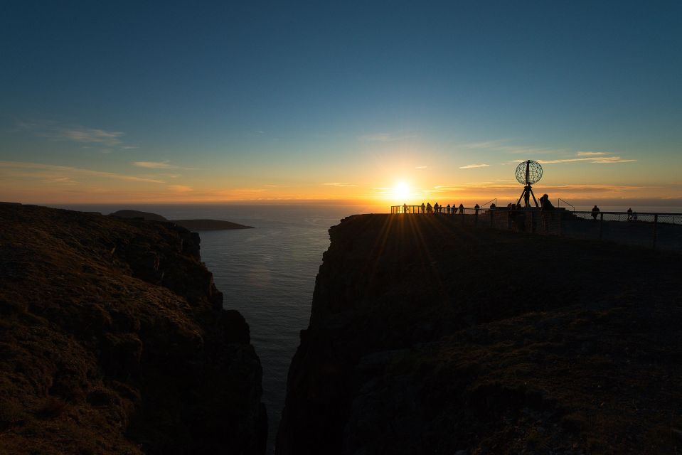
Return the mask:
<svg viewBox="0 0 682 455">
<path fill-rule="evenodd" d="M 171 223 L 0 205 L 0 451 L 262 454 L 249 327 Z"/>
</svg>

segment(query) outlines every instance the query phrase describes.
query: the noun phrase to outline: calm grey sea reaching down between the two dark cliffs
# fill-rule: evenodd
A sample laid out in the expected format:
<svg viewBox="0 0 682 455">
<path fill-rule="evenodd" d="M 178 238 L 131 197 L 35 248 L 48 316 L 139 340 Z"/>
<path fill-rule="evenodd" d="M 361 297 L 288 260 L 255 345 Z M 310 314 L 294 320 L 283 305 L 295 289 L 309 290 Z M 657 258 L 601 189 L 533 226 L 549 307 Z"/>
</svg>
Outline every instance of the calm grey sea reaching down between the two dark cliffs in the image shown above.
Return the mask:
<svg viewBox="0 0 682 455">
<path fill-rule="evenodd" d="M 274 447 L 287 373 L 307 328 L 315 277 L 329 247 L 329 228 L 369 213 L 359 205 L 78 205 L 63 208 L 108 214 L 130 208 L 166 218 L 213 218 L 254 229 L 201 232 L 201 259 L 225 295 L 226 309 L 244 315 L 263 367 L 263 401 Z M 374 211 L 378 211 L 374 208 Z M 388 208 L 383 211 L 388 211 Z"/>
</svg>

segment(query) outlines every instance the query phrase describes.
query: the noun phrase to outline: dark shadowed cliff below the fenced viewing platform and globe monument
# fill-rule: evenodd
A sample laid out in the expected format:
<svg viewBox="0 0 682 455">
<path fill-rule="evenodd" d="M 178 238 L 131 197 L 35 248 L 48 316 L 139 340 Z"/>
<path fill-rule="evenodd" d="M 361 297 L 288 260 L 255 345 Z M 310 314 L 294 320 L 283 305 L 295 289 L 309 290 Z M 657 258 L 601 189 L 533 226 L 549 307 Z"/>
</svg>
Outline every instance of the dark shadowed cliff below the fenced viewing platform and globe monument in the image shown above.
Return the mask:
<svg viewBox="0 0 682 455">
<path fill-rule="evenodd" d="M 277 454 L 672 453 L 678 255 L 358 215 L 330 230 Z"/>
</svg>

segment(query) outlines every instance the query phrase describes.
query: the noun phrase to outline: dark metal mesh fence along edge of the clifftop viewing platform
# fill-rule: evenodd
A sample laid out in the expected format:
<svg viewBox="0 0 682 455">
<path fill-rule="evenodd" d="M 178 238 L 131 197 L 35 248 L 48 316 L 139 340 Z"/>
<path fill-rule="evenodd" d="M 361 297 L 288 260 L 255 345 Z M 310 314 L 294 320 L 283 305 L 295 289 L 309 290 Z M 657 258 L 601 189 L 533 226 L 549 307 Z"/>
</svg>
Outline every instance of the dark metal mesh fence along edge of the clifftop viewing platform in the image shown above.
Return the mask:
<svg viewBox="0 0 682 455">
<path fill-rule="evenodd" d="M 393 214 L 423 214 L 420 205 L 393 205 Z M 452 217 L 463 225 L 500 230 L 606 240 L 682 252 L 682 213 L 626 213 L 569 211 L 563 208 L 445 208 L 436 216 Z"/>
</svg>

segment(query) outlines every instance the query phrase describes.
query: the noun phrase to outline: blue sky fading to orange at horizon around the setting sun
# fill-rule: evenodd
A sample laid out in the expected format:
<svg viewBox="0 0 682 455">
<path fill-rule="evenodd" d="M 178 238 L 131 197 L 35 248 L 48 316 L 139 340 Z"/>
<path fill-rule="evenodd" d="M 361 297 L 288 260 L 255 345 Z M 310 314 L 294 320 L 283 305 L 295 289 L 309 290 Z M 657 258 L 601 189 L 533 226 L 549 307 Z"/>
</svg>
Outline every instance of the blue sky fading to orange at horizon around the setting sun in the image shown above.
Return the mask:
<svg viewBox="0 0 682 455">
<path fill-rule="evenodd" d="M 682 200 L 680 1 L 3 1 L 0 200 Z"/>
</svg>

